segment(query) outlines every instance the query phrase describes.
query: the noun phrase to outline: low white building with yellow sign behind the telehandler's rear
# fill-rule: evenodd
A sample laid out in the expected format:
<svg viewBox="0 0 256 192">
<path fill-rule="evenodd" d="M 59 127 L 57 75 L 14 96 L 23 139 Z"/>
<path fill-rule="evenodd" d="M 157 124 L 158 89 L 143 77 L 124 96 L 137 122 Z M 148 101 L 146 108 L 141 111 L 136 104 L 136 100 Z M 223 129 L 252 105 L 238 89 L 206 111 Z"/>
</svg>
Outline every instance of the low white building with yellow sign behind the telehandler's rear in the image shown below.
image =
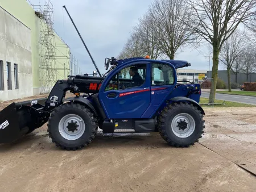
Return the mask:
<svg viewBox="0 0 256 192">
<path fill-rule="evenodd" d="M 177 69 L 177 81 L 190 81 L 197 84 L 203 82 L 202 77 L 208 77 L 208 70 Z"/>
</svg>

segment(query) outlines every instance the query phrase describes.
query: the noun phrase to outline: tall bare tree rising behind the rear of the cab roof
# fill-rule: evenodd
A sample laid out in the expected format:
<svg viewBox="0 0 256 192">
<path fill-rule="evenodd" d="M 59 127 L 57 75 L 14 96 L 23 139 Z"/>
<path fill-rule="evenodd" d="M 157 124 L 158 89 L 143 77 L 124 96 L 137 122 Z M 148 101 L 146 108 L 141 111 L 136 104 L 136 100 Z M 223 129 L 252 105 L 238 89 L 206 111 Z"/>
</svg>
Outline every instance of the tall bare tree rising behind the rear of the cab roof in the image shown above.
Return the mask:
<svg viewBox="0 0 256 192">
<path fill-rule="evenodd" d="M 183 0 L 155 0 L 149 14 L 151 23 L 154 23 L 158 47 L 170 59 L 174 59 L 177 50 L 190 43 L 193 35 L 187 25 L 191 20 L 191 9 L 185 6 Z"/>
</svg>

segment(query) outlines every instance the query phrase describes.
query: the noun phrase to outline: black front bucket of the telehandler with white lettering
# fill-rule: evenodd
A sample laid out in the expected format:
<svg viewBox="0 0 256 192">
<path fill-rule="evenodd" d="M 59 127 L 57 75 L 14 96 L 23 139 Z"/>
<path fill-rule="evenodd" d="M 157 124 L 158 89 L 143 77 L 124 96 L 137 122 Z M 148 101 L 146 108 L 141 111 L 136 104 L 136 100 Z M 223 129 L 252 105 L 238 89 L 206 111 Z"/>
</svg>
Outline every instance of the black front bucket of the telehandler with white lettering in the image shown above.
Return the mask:
<svg viewBox="0 0 256 192">
<path fill-rule="evenodd" d="M 10 143 L 39 127 L 40 114 L 46 98 L 11 103 L 0 111 L 0 143 Z"/>
</svg>

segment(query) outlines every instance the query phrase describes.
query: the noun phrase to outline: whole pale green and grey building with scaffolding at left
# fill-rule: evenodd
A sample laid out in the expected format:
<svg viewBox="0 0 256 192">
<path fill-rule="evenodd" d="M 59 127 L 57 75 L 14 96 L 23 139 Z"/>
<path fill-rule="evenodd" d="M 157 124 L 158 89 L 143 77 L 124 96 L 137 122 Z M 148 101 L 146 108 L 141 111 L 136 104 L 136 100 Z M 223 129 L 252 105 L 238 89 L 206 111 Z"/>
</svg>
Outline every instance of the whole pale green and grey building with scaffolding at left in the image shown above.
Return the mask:
<svg viewBox="0 0 256 192">
<path fill-rule="evenodd" d="M 51 2 L 0 0 L 0 23 L 0 101 L 49 93 L 58 79 L 81 73 L 53 29 Z"/>
</svg>

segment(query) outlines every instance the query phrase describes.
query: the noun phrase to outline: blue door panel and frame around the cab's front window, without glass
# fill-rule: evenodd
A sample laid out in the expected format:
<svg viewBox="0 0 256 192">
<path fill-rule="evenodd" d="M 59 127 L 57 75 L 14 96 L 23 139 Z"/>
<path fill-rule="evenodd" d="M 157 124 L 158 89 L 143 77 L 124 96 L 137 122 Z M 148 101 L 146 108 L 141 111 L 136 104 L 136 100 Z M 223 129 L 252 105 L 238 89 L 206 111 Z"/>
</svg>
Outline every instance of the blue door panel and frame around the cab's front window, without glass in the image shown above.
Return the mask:
<svg viewBox="0 0 256 192">
<path fill-rule="evenodd" d="M 147 64 L 146 72 L 150 74 L 150 65 L 147 60 L 136 60 L 135 63 Z M 150 76 L 146 76 L 146 81 L 142 86 L 105 91 L 106 85 L 116 72 L 133 64 L 134 62 L 131 61 L 126 62 L 125 65 L 118 65 L 108 74 L 101 85 L 98 97 L 101 98 L 100 103 L 109 119 L 141 118 L 144 111 L 150 105 Z M 117 96 L 115 98 L 108 98 L 107 95 L 109 93 L 115 93 Z"/>
</svg>

